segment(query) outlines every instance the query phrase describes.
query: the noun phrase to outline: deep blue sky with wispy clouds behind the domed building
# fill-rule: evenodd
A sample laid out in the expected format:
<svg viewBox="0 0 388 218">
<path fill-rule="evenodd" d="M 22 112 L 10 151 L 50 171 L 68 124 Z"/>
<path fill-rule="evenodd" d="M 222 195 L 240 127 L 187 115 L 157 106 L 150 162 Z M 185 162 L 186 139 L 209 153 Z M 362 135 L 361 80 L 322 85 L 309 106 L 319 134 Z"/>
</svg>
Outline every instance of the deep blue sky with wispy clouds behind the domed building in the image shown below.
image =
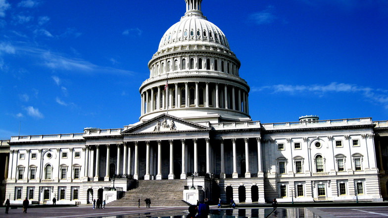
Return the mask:
<svg viewBox="0 0 388 218">
<path fill-rule="evenodd" d="M 184 0 L 0 0 L 0 139 L 122 128 Z M 253 120 L 388 119 L 388 1 L 203 0 Z"/>
</svg>

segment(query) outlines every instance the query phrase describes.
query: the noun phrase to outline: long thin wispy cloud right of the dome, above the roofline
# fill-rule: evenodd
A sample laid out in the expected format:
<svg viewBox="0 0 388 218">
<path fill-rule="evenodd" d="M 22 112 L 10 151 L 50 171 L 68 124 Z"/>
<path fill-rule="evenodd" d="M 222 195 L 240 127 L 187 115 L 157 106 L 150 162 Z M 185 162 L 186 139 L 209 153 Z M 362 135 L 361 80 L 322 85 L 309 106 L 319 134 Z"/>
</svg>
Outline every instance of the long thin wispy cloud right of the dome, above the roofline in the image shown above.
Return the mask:
<svg viewBox="0 0 388 218">
<path fill-rule="evenodd" d="M 361 94 L 366 100 L 373 101 L 383 105 L 388 109 L 388 90 L 382 89 L 373 89 L 370 87 L 361 87 L 359 85 L 347 84 L 347 83 L 337 83 L 332 82 L 327 85 L 322 84 L 313 84 L 313 85 L 287 85 L 287 84 L 278 84 L 271 86 L 262 86 L 257 88 L 252 88 L 252 92 L 261 92 L 269 90 L 272 93 L 289 93 L 289 94 L 299 94 L 309 92 L 314 95 L 324 95 L 326 93 L 357 93 Z"/>
</svg>

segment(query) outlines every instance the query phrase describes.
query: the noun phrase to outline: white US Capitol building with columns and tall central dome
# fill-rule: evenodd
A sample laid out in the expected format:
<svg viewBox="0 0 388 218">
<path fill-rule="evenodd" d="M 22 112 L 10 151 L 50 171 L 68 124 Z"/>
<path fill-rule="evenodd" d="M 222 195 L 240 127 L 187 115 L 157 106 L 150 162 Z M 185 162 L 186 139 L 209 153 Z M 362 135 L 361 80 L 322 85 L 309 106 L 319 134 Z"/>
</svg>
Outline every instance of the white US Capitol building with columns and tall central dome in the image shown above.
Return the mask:
<svg viewBox="0 0 388 218">
<path fill-rule="evenodd" d="M 0 200 L 111 202 L 163 181 L 183 182 L 177 198 L 189 203 L 388 197 L 387 121 L 316 115 L 252 121 L 240 66 L 227 37 L 203 16 L 201 0 L 186 0 L 185 15 L 164 33 L 148 62 L 140 121 L 2 142 Z"/>
</svg>

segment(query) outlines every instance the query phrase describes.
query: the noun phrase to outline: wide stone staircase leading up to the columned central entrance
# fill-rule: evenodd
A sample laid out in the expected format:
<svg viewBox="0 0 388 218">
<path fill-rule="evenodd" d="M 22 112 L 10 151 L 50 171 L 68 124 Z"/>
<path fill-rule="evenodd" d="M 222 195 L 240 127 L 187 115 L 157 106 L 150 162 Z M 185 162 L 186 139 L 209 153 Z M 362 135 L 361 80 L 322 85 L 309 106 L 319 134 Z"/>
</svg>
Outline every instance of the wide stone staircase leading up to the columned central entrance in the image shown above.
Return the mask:
<svg viewBox="0 0 388 218">
<path fill-rule="evenodd" d="M 139 186 L 124 193 L 124 196 L 110 202 L 109 206 L 145 207 L 145 198 L 151 199 L 151 207 L 188 206 L 184 202 L 183 189 L 186 180 L 139 180 Z"/>
</svg>

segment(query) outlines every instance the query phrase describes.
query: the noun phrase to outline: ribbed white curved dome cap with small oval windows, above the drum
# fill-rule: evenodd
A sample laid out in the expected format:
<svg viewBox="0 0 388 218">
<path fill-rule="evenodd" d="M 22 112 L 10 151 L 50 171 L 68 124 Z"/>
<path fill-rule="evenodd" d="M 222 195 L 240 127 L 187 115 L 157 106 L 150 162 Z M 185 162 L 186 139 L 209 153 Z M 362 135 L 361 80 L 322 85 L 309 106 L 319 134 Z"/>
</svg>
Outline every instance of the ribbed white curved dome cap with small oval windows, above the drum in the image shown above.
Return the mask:
<svg viewBox="0 0 388 218">
<path fill-rule="evenodd" d="M 172 46 L 206 44 L 230 50 L 228 39 L 216 25 L 197 13 L 186 13 L 163 35 L 158 51 Z"/>
</svg>

